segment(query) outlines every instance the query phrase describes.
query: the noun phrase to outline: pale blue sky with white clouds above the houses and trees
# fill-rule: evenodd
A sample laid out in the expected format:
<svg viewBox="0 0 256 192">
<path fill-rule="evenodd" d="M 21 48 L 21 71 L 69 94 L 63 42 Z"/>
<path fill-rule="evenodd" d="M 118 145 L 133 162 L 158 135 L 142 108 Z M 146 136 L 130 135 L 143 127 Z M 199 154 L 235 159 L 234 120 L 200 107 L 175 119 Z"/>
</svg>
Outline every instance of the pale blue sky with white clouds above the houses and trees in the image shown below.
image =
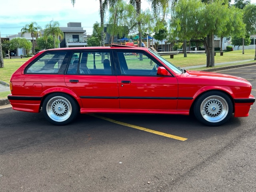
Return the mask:
<svg viewBox="0 0 256 192">
<path fill-rule="evenodd" d="M 1 37 L 18 34 L 21 28 L 31 22 L 36 22 L 45 28 L 51 20 L 58 21 L 61 27 L 66 27 L 68 22 L 81 22 L 87 34 L 92 34 L 92 26 L 100 23 L 98 0 L 76 0 L 74 7 L 71 0 L 11 0 L 5 3 L 0 0 L 0 33 Z M 256 3 L 256 0 L 251 0 Z M 142 0 L 142 9 L 150 7 L 147 0 Z M 107 16 L 107 14 L 106 14 Z"/>
</svg>

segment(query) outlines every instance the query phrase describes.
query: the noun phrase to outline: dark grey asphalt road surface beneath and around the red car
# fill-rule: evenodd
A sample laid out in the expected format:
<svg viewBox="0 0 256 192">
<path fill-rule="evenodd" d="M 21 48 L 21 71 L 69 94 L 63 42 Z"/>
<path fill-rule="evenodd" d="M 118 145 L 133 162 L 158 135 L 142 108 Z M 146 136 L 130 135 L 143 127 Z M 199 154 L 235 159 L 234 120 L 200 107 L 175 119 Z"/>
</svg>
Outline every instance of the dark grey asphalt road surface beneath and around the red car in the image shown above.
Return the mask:
<svg viewBox="0 0 256 192">
<path fill-rule="evenodd" d="M 256 66 L 221 72 L 248 79 L 256 96 Z M 193 116 L 100 117 L 53 126 L 42 113 L 0 109 L 0 192 L 256 191 L 256 104 L 219 127 Z"/>
</svg>

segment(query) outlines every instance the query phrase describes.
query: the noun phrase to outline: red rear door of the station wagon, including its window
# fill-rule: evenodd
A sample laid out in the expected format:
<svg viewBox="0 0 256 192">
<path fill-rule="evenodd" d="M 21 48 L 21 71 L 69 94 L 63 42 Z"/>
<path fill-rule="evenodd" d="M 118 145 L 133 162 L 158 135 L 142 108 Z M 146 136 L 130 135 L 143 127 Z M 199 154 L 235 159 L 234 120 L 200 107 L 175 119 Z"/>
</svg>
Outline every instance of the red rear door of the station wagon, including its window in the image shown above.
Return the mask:
<svg viewBox="0 0 256 192">
<path fill-rule="evenodd" d="M 65 82 L 81 98 L 83 108 L 104 110 L 119 108 L 117 79 L 110 51 L 74 52 L 65 74 Z"/>
</svg>

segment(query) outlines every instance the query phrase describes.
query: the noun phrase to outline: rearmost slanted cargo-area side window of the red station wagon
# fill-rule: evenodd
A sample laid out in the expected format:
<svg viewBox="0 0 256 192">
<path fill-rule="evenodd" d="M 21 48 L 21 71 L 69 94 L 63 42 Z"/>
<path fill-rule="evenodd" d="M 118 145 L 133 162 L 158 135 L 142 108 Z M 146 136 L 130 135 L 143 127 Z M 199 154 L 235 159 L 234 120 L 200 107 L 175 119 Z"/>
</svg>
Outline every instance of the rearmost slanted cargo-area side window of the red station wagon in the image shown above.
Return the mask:
<svg viewBox="0 0 256 192">
<path fill-rule="evenodd" d="M 50 73 L 58 74 L 61 66 L 65 63 L 67 52 L 49 52 L 38 58 L 26 69 L 26 73 Z"/>
</svg>

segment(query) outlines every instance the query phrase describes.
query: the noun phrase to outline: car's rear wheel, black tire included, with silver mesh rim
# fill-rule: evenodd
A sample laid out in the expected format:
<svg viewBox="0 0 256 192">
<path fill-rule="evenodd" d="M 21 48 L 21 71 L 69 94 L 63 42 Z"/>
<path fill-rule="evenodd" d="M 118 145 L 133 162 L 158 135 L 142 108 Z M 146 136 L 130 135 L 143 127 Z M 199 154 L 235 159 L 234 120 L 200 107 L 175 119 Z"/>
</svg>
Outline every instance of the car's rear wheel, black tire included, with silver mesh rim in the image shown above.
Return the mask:
<svg viewBox="0 0 256 192">
<path fill-rule="evenodd" d="M 72 96 L 53 93 L 44 99 L 42 110 L 45 118 L 54 125 L 66 125 L 78 114 L 78 105 Z"/>
</svg>

